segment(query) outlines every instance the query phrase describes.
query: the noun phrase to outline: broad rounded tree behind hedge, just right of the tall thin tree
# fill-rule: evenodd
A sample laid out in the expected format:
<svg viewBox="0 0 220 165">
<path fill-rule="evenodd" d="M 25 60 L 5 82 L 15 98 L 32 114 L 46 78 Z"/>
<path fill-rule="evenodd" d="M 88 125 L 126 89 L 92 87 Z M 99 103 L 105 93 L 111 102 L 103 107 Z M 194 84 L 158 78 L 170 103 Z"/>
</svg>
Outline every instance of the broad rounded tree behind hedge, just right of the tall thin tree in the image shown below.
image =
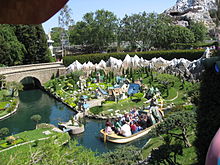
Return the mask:
<svg viewBox="0 0 220 165">
<path fill-rule="evenodd" d="M 70 30 L 70 38 L 92 51 L 104 51 L 116 40 L 117 17 L 107 10 L 86 13 L 83 21 L 77 22 Z"/>
</svg>

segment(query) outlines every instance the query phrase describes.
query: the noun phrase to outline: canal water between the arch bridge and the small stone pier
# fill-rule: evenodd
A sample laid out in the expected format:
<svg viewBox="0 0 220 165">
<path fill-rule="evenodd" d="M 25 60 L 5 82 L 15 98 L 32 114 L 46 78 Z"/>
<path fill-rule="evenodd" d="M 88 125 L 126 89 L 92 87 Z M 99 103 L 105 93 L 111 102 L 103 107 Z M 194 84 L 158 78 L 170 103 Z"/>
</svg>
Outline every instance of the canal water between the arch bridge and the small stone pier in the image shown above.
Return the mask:
<svg viewBox="0 0 220 165">
<path fill-rule="evenodd" d="M 51 123 L 57 126 L 59 121 L 68 121 L 75 113 L 62 103 L 57 102 L 39 89 L 22 91 L 19 94 L 20 104 L 15 115 L 0 121 L 0 128 L 7 127 L 15 134 L 35 128 L 30 119 L 32 115 L 39 114 L 40 122 Z M 60 110 L 62 107 L 63 110 Z"/>
</svg>

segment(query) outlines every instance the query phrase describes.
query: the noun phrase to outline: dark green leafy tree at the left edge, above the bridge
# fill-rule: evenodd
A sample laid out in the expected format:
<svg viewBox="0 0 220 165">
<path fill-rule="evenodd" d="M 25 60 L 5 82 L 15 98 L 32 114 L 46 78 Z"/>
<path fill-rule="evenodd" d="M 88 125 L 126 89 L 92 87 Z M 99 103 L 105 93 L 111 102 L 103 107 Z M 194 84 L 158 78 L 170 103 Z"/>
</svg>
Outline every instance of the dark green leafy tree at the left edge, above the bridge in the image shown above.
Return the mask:
<svg viewBox="0 0 220 165">
<path fill-rule="evenodd" d="M 25 47 L 21 44 L 10 25 L 0 25 L 0 63 L 13 66 L 22 64 Z"/>
</svg>

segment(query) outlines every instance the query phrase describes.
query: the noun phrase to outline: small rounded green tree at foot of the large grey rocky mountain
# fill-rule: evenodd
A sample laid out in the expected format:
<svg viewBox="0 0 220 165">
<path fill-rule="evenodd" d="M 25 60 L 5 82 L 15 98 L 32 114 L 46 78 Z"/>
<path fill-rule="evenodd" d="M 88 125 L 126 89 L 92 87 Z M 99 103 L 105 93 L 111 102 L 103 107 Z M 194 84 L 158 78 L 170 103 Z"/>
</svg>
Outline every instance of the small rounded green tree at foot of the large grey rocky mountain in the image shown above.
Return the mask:
<svg viewBox="0 0 220 165">
<path fill-rule="evenodd" d="M 189 29 L 195 36 L 195 42 L 203 42 L 208 34 L 208 29 L 202 22 L 190 22 Z"/>
</svg>

